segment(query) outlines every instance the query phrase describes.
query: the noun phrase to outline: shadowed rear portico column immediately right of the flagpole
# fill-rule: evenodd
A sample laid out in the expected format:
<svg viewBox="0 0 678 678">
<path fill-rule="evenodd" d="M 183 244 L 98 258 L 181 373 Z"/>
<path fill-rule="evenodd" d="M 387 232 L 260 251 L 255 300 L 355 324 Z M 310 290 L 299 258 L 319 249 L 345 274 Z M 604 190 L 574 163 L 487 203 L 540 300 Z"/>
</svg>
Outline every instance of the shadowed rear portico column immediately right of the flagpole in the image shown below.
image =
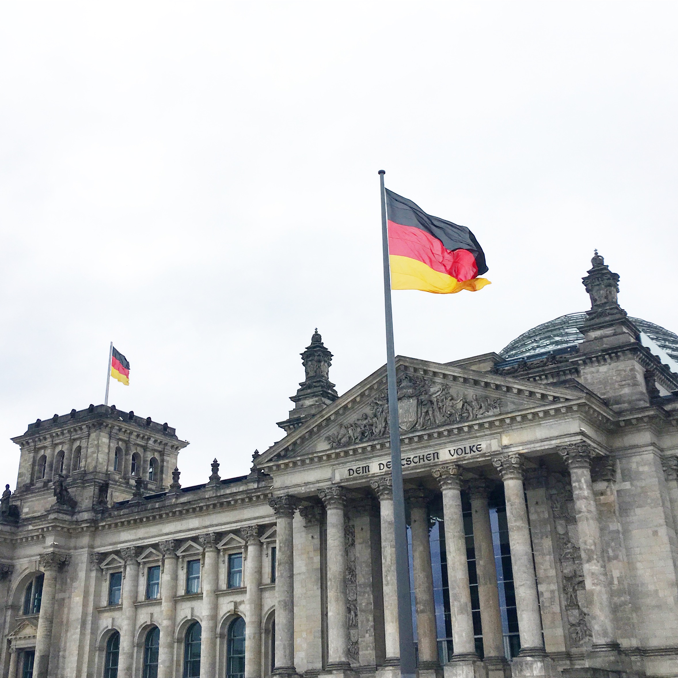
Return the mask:
<svg viewBox="0 0 678 678">
<path fill-rule="evenodd" d="M 431 542 L 428 540 L 428 495 L 428 490 L 424 490 L 423 487 L 407 492 L 412 530 L 412 575 L 414 577 L 414 608 L 417 616 L 420 678 L 424 671 L 435 676 L 435 669 L 438 666 L 433 567 L 431 566 Z"/>
</svg>

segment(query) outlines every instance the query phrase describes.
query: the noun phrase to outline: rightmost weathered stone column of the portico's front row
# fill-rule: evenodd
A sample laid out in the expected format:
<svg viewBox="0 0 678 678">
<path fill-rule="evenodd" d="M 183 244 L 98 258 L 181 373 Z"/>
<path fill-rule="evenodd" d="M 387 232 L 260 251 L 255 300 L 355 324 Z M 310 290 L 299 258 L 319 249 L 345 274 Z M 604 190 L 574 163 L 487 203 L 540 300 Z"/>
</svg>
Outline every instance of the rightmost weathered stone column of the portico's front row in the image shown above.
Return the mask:
<svg viewBox="0 0 678 678">
<path fill-rule="evenodd" d="M 588 443 L 573 443 L 559 447 L 558 452 L 565 459 L 572 478 L 572 497 L 584 568 L 584 585 L 591 601 L 589 621 L 593 647 L 599 650 L 616 650 L 618 645 L 614 638 L 610 585 L 607 582 L 598 509 L 591 483 L 593 448 Z"/>
</svg>

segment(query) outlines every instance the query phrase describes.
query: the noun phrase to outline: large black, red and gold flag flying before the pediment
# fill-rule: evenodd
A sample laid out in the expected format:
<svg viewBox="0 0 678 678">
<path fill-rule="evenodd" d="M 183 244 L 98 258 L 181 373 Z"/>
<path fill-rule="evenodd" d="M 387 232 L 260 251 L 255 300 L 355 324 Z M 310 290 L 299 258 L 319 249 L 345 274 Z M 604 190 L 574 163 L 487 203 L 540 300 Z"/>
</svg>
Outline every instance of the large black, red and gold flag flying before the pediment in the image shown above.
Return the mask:
<svg viewBox="0 0 678 678">
<path fill-rule="evenodd" d="M 490 281 L 485 254 L 475 235 L 451 221 L 426 214 L 386 188 L 391 290 L 451 294 L 477 292 Z"/>
</svg>

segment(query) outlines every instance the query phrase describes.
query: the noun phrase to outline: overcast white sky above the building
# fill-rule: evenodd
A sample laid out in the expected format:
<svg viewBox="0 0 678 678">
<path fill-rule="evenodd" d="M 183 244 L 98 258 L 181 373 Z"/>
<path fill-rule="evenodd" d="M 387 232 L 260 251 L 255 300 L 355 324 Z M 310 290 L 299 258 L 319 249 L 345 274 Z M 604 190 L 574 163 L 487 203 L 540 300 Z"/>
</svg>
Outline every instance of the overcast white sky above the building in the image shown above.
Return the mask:
<svg viewBox="0 0 678 678">
<path fill-rule="evenodd" d="M 378 169 L 469 226 L 492 285 L 394 294 L 396 351 L 500 351 L 589 307 L 678 330 L 678 5 L 3 3 L 0 471 L 28 422 L 176 426 L 182 483 L 246 473 L 318 327 L 344 393 L 384 361 Z"/>
</svg>

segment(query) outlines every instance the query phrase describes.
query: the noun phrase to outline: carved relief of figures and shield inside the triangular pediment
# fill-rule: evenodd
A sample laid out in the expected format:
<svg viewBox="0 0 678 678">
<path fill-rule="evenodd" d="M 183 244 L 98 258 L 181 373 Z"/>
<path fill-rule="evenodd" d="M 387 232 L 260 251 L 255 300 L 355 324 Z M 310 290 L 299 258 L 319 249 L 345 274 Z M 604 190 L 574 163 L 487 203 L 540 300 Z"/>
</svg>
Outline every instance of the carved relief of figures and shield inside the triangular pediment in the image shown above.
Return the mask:
<svg viewBox="0 0 678 678">
<path fill-rule="evenodd" d="M 417 375 L 398 378 L 398 420 L 401 431 L 422 430 L 456 424 L 491 414 L 500 414 L 501 401 L 485 395 L 465 395 L 450 384 Z M 386 393 L 372 399 L 367 412 L 352 422 L 344 422 L 325 437 L 330 447 L 344 447 L 388 435 Z"/>
</svg>

